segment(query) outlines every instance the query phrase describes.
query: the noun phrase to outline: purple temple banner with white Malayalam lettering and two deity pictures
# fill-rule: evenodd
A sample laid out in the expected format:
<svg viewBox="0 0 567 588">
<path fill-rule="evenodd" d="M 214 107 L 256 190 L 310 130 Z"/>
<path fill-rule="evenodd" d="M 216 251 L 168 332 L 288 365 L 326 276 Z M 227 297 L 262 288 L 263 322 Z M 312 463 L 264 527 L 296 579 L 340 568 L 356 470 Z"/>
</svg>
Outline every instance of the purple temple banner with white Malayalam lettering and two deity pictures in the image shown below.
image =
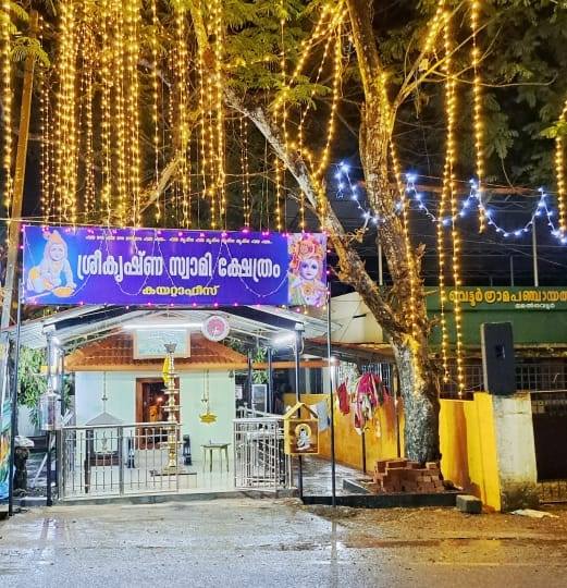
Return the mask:
<svg viewBox="0 0 567 588">
<path fill-rule="evenodd" d="M 37 305 L 308 305 L 326 295 L 326 236 L 24 226 Z"/>
</svg>

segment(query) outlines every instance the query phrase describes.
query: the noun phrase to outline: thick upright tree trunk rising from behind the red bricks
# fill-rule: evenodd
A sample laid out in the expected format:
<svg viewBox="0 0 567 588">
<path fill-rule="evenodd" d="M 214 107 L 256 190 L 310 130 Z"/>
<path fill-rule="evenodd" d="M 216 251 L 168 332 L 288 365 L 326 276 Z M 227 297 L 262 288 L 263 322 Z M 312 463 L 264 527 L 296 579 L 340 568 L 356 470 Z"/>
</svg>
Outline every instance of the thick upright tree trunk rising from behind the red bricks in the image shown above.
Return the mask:
<svg viewBox="0 0 567 588">
<path fill-rule="evenodd" d="M 365 90 L 359 147 L 367 195 L 383 220 L 379 238 L 394 284 L 395 322 L 400 324 L 397 329 L 383 323 L 382 327 L 391 338 L 399 373 L 405 453 L 423 464 L 439 460 L 440 451 L 439 384 L 436 369 L 428 355 L 429 320 L 420 278 L 421 252 L 411 245 L 404 219 L 396 210 L 400 195 L 391 187 L 391 180 L 397 173 L 395 166 L 392 167 L 394 162 L 389 160 L 395 111 L 387 96 L 372 29 L 371 2 L 347 0 L 347 5 Z"/>
</svg>

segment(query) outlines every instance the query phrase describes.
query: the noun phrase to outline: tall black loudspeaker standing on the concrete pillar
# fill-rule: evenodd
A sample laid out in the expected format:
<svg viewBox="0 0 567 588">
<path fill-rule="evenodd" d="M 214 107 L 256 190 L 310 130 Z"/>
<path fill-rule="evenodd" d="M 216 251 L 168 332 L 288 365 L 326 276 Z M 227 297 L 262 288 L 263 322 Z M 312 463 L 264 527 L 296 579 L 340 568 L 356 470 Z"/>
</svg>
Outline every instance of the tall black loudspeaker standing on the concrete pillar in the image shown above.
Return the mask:
<svg viewBox="0 0 567 588">
<path fill-rule="evenodd" d="M 511 322 L 483 322 L 480 326 L 484 390 L 489 394 L 516 392 L 516 362 Z"/>
</svg>

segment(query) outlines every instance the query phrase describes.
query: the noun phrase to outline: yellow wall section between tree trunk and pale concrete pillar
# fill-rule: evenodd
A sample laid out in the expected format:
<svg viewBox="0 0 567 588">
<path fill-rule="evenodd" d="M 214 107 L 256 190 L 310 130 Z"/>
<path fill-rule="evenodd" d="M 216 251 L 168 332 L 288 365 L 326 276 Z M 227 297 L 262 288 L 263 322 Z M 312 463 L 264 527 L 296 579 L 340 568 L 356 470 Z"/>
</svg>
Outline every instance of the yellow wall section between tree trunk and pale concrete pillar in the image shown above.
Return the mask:
<svg viewBox="0 0 567 588">
<path fill-rule="evenodd" d="M 441 469 L 445 479 L 501 510 L 492 396 L 471 401 L 441 401 L 439 424 Z"/>
</svg>

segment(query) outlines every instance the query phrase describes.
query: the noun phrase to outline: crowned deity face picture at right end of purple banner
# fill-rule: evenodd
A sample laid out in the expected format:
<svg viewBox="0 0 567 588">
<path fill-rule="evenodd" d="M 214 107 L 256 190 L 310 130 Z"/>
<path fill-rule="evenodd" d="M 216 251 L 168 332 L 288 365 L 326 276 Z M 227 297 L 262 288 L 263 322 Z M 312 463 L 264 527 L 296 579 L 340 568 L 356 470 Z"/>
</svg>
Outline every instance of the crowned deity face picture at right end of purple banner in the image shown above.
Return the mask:
<svg viewBox="0 0 567 588">
<path fill-rule="evenodd" d="M 289 303 L 297 305 L 323 306 L 326 285 L 325 235 L 289 235 Z"/>
</svg>

